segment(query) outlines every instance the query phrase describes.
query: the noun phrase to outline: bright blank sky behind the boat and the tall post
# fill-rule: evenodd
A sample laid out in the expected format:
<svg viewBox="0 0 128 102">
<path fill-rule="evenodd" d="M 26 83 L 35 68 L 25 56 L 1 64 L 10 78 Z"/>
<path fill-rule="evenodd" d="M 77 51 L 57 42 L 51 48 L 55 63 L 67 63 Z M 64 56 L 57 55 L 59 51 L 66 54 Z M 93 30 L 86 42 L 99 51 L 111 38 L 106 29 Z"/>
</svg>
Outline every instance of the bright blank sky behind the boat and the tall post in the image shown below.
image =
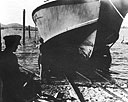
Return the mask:
<svg viewBox="0 0 128 102">
<path fill-rule="evenodd" d="M 51 1 L 51 0 L 50 0 Z M 32 11 L 42 5 L 44 0 L 1 0 L 0 2 L 0 23 L 23 23 L 23 9 L 26 11 L 26 25 L 34 26 Z M 128 15 L 123 22 L 128 26 Z"/>
</svg>

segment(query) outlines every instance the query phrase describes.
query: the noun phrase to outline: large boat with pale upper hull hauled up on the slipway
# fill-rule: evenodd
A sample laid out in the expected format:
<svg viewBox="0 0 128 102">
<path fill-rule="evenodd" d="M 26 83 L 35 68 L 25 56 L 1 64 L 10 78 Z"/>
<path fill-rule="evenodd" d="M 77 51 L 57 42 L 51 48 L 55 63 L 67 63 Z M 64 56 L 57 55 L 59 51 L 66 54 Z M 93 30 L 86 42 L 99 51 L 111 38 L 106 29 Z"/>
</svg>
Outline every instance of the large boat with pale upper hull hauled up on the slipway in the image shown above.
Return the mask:
<svg viewBox="0 0 128 102">
<path fill-rule="evenodd" d="M 44 70 L 108 74 L 109 50 L 119 38 L 127 5 L 127 0 L 54 0 L 37 7 L 32 18 L 44 39 Z"/>
</svg>

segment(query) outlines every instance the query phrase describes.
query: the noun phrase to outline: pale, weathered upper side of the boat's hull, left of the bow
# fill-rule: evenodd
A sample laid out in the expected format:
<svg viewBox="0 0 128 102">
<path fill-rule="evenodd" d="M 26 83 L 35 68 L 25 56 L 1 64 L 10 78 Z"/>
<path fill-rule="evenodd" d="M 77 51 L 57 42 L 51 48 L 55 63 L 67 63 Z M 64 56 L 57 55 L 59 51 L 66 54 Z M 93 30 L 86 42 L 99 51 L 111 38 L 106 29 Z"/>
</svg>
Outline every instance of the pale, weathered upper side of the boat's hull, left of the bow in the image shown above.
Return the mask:
<svg viewBox="0 0 128 102">
<path fill-rule="evenodd" d="M 61 1 L 52 2 L 54 5 L 46 3 L 33 12 L 33 19 L 44 42 L 98 19 L 100 3 L 97 0 L 81 0 L 78 3 Z"/>
</svg>

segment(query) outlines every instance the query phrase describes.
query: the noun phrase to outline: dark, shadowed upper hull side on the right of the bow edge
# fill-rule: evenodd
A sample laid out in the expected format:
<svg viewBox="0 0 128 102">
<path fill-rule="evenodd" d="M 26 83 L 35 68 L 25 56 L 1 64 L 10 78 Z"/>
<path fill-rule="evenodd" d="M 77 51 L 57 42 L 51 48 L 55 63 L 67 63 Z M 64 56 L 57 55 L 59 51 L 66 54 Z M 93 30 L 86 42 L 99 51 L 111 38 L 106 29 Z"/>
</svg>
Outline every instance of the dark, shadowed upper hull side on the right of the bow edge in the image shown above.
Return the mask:
<svg viewBox="0 0 128 102">
<path fill-rule="evenodd" d="M 117 2 L 119 1 L 120 0 Z M 119 5 L 113 6 L 112 3 L 115 4 L 114 2 L 109 2 L 109 0 L 101 0 L 95 44 L 97 49 L 102 49 L 102 47 L 116 42 L 119 37 L 119 31 L 123 19 L 119 15 L 121 12 L 118 13 L 117 11 L 120 10 L 118 7 Z"/>
</svg>

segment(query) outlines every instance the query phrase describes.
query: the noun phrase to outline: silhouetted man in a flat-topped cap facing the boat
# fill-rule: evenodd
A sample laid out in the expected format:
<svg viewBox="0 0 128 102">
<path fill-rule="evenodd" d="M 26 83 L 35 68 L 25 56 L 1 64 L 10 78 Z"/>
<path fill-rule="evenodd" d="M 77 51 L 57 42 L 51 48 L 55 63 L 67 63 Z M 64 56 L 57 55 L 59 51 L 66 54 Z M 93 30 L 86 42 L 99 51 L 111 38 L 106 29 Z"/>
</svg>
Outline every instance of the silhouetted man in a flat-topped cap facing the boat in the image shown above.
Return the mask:
<svg viewBox="0 0 128 102">
<path fill-rule="evenodd" d="M 0 54 L 0 77 L 3 80 L 3 102 L 23 102 L 21 98 L 21 72 L 17 56 L 13 53 L 20 45 L 21 36 L 9 35 L 3 38 L 6 48 Z"/>
</svg>

